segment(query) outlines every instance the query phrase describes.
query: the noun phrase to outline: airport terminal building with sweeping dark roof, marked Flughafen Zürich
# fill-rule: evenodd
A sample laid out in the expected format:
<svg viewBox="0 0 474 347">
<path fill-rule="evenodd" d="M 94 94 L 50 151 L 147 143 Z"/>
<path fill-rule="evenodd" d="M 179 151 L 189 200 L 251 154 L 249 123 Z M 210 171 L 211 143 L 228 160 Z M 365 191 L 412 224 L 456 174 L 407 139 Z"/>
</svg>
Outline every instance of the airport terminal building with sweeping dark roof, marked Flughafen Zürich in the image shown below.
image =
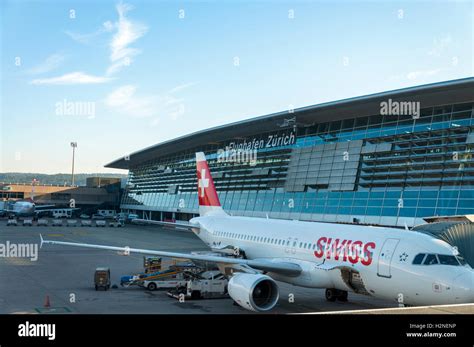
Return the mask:
<svg viewBox="0 0 474 347">
<path fill-rule="evenodd" d="M 198 131 L 106 167 L 121 208 L 197 215 L 195 153 L 233 215 L 413 226 L 474 214 L 474 78 L 284 110 Z"/>
</svg>

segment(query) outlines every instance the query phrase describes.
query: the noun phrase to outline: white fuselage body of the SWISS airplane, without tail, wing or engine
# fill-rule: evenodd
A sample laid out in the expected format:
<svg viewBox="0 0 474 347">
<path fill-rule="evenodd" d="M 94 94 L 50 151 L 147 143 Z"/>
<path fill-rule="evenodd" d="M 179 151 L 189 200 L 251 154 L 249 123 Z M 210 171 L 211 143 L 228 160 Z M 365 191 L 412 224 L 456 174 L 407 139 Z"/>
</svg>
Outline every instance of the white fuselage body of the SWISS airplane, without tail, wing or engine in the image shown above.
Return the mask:
<svg viewBox="0 0 474 347">
<path fill-rule="evenodd" d="M 474 302 L 472 269 L 456 262 L 449 244 L 419 232 L 231 216 L 196 217 L 191 223 L 199 223 L 195 232 L 212 249 L 299 264 L 299 276 L 269 274 L 283 282 L 409 305 Z M 449 256 L 454 265 L 413 264 L 419 254 Z"/>
</svg>

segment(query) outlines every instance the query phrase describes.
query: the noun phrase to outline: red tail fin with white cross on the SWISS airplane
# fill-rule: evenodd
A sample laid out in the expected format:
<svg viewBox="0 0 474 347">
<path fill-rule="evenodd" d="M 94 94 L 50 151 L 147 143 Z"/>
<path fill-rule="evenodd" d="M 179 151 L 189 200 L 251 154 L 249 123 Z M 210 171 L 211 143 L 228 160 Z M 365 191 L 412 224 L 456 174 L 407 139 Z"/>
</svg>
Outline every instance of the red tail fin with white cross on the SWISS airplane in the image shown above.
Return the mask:
<svg viewBox="0 0 474 347">
<path fill-rule="evenodd" d="M 226 214 L 217 196 L 206 156 L 203 152 L 196 153 L 196 169 L 198 177 L 199 214 Z"/>
</svg>

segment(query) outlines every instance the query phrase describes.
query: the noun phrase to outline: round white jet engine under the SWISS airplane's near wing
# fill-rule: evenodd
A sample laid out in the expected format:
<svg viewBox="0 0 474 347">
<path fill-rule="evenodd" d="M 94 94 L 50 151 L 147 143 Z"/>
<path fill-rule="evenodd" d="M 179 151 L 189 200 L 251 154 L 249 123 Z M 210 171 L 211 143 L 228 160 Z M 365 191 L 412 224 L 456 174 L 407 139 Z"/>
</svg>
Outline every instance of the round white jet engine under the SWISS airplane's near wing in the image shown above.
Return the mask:
<svg viewBox="0 0 474 347">
<path fill-rule="evenodd" d="M 227 286 L 230 297 L 250 311 L 269 311 L 278 302 L 278 286 L 266 275 L 240 273 Z"/>
</svg>

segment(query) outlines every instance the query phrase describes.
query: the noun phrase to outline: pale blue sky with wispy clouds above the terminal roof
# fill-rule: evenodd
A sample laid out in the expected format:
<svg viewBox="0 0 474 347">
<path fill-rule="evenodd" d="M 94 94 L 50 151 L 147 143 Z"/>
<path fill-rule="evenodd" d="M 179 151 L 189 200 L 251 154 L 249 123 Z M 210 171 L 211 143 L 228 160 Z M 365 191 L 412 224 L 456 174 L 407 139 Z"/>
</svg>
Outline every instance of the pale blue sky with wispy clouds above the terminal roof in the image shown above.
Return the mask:
<svg viewBox="0 0 474 347">
<path fill-rule="evenodd" d="M 76 172 L 124 172 L 103 165 L 211 126 L 474 75 L 469 1 L 0 6 L 2 172 L 69 172 L 71 141 Z"/>
</svg>

